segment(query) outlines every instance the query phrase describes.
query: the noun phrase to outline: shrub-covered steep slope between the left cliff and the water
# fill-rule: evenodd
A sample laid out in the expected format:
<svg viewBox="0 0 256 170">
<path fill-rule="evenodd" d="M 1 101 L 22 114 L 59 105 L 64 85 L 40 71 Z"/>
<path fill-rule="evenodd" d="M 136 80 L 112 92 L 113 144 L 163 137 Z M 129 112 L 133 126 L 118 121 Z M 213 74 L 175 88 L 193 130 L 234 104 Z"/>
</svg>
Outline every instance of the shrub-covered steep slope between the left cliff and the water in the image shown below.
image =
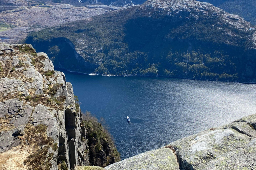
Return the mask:
<svg viewBox="0 0 256 170">
<path fill-rule="evenodd" d="M 102 124 L 103 120 L 101 119 L 99 123 L 90 112 L 83 115 L 82 126 L 85 126 L 88 133 L 90 164 L 105 167 L 120 161 L 120 153 L 117 151 L 110 133 L 103 128 Z M 102 152 L 106 153 L 107 160 L 102 160 Z"/>
</svg>

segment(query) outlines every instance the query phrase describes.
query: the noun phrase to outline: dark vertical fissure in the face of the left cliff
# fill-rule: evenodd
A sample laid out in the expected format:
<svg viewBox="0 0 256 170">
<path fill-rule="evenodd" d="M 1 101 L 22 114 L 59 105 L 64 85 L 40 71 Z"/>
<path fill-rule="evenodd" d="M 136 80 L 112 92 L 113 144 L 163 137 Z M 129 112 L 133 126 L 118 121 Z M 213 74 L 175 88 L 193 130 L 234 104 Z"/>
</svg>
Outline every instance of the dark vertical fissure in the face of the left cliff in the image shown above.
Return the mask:
<svg viewBox="0 0 256 170">
<path fill-rule="evenodd" d="M 68 135 L 68 147 L 69 147 L 69 162 L 70 169 L 74 169 L 76 165 L 75 159 L 75 126 L 76 126 L 76 113 L 73 113 L 70 109 L 65 110 L 65 127 Z"/>
</svg>

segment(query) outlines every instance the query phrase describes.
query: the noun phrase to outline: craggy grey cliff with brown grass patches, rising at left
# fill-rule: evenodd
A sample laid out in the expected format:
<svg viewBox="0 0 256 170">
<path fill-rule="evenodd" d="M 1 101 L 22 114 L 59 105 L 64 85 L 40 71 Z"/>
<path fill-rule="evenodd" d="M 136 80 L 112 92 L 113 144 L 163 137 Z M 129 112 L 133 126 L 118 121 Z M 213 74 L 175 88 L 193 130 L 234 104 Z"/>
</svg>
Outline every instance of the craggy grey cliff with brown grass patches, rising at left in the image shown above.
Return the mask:
<svg viewBox="0 0 256 170">
<path fill-rule="evenodd" d="M 90 165 L 91 134 L 65 75 L 29 44 L 0 43 L 0 62 L 0 169 Z M 113 143 L 108 147 L 116 150 Z M 120 160 L 104 151 L 96 156 L 105 163 L 99 166 L 109 165 L 107 158 Z"/>
</svg>

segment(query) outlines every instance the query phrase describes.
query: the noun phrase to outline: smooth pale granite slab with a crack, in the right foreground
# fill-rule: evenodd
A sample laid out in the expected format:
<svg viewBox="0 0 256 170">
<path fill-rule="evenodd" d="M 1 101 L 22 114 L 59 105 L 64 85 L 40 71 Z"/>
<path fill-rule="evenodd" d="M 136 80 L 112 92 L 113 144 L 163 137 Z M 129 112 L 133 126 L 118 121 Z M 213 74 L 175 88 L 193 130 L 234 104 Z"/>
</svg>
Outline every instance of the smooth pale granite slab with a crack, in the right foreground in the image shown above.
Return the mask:
<svg viewBox="0 0 256 170">
<path fill-rule="evenodd" d="M 255 127 L 256 114 L 182 138 L 105 169 L 255 170 Z"/>
</svg>

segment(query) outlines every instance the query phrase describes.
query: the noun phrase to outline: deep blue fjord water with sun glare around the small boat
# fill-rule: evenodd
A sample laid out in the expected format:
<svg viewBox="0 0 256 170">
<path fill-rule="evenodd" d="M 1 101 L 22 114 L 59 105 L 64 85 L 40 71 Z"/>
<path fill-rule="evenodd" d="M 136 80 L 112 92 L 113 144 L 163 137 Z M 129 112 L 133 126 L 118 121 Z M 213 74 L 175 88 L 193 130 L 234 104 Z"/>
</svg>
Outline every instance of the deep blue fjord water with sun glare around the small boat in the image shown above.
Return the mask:
<svg viewBox="0 0 256 170">
<path fill-rule="evenodd" d="M 105 119 L 122 159 L 256 112 L 256 84 L 60 71 L 81 110 Z"/>
</svg>

